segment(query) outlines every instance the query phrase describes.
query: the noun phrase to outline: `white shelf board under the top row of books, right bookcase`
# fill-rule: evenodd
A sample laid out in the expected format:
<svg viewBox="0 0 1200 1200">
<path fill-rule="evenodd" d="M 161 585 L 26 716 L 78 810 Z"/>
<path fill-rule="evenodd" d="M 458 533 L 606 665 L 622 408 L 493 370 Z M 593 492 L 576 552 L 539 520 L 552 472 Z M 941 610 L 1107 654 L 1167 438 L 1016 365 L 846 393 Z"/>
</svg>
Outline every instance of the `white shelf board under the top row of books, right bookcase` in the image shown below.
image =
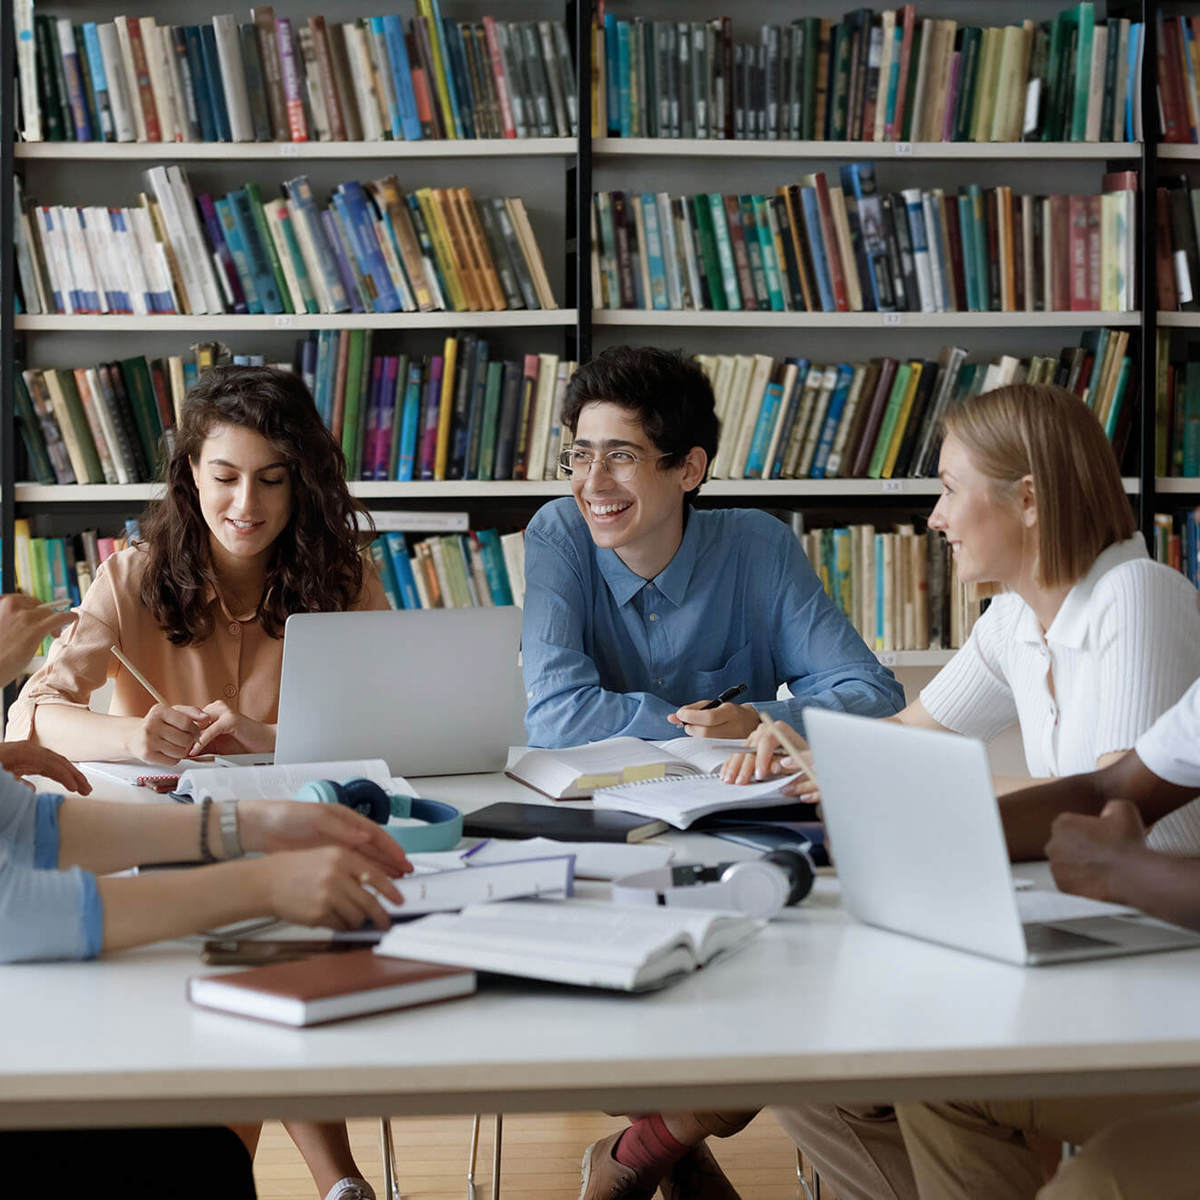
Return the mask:
<svg viewBox="0 0 1200 1200">
<path fill-rule="evenodd" d="M 1200 146 L 1178 146 L 1196 151 Z M 593 138 L 596 158 L 952 158 L 1111 161 L 1140 158 L 1140 142 L 738 142 L 726 138 Z M 1171 157 L 1186 157 L 1172 155 Z"/>
</svg>

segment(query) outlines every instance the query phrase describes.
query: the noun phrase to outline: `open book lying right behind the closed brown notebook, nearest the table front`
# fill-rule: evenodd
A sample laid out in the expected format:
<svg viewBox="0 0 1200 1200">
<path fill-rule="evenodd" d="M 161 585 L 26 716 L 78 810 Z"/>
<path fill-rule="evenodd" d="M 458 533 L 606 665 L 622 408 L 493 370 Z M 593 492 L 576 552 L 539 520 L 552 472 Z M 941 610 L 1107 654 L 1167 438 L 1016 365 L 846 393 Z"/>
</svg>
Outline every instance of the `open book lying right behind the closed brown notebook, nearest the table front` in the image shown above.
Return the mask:
<svg viewBox="0 0 1200 1200">
<path fill-rule="evenodd" d="M 744 946 L 764 924 L 716 912 L 510 900 L 396 925 L 376 953 L 584 988 L 644 991 Z"/>
</svg>

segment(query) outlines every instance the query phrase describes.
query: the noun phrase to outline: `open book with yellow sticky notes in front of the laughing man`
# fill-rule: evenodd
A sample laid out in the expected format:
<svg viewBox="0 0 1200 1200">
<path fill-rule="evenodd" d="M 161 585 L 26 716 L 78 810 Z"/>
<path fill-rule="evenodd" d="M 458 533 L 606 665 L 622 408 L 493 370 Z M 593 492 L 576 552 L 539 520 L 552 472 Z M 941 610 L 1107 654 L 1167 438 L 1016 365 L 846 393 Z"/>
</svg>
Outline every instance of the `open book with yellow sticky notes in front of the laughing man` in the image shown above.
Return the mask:
<svg viewBox="0 0 1200 1200">
<path fill-rule="evenodd" d="M 576 800 L 618 784 L 707 775 L 745 748 L 739 738 L 606 738 L 560 750 L 514 746 L 505 774 L 552 800 Z"/>
</svg>

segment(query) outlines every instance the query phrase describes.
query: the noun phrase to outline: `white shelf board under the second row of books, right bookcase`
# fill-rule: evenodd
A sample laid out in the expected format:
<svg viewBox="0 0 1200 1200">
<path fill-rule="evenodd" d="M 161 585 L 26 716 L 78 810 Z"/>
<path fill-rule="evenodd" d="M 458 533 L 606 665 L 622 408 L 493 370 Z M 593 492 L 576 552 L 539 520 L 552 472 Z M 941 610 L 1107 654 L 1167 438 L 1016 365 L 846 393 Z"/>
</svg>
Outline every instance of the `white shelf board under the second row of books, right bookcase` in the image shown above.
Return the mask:
<svg viewBox="0 0 1200 1200">
<path fill-rule="evenodd" d="M 1194 318 L 1200 313 L 1177 313 Z M 722 329 L 1074 329 L 1138 326 L 1138 312 L 678 312 L 665 308 L 596 308 L 594 325 L 720 326 Z M 1181 323 L 1182 324 L 1182 323 Z"/>
</svg>

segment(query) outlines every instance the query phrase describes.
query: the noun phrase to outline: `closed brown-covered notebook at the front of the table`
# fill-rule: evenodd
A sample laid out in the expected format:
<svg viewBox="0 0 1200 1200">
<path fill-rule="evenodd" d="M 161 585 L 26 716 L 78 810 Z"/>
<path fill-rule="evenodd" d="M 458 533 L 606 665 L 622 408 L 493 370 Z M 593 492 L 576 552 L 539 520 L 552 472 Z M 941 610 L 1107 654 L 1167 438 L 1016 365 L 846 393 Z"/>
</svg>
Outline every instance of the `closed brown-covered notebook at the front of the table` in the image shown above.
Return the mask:
<svg viewBox="0 0 1200 1200">
<path fill-rule="evenodd" d="M 187 998 L 202 1008 L 295 1026 L 431 1004 L 474 990 L 474 971 L 382 958 L 372 950 L 318 954 L 187 980 Z"/>
</svg>

